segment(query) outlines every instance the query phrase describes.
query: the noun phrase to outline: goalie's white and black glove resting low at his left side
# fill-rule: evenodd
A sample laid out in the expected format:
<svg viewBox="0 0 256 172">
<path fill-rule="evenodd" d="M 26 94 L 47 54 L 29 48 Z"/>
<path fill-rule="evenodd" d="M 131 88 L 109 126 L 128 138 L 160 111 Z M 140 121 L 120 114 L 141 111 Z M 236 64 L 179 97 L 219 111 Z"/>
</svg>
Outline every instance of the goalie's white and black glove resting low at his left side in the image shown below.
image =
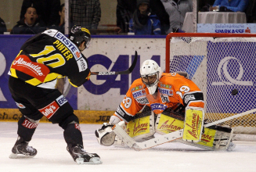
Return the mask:
<svg viewBox="0 0 256 172">
<path fill-rule="evenodd" d="M 112 127 L 114 127 L 114 125 L 103 123 L 103 126 L 95 131 L 99 145 L 110 146 L 114 144 L 116 134 L 112 131 Z"/>
</svg>

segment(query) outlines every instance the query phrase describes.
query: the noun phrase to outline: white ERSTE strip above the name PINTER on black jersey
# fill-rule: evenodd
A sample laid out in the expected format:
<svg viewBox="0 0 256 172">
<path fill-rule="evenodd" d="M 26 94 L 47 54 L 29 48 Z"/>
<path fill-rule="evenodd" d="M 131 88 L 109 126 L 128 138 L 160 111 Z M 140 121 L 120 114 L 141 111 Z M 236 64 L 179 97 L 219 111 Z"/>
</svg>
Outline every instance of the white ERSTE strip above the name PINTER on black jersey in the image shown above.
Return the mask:
<svg viewBox="0 0 256 172">
<path fill-rule="evenodd" d="M 73 54 L 74 58 L 76 60 L 81 58 L 81 53 L 77 47 L 77 45 L 74 45 L 74 43 L 72 41 L 70 41 L 69 38 L 67 38 L 64 34 L 58 32 L 54 38 L 58 39 L 59 41 L 61 41 L 63 43 L 63 45 L 66 45 L 67 48 L 70 49 L 71 53 Z"/>
</svg>

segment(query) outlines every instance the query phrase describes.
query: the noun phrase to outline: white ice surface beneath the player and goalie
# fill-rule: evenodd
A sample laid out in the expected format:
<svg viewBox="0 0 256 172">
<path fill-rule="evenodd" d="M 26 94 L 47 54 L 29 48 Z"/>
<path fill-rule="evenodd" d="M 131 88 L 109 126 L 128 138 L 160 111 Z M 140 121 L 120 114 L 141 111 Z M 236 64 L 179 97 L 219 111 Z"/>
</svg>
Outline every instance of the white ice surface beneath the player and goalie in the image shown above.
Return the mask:
<svg viewBox="0 0 256 172">
<path fill-rule="evenodd" d="M 94 131 L 101 125 L 81 124 L 87 152 L 96 152 L 100 165 L 78 165 L 66 150 L 63 129 L 58 124 L 40 123 L 29 145 L 38 149 L 31 159 L 9 159 L 16 142 L 17 124 L 0 122 L 0 172 L 166 172 L 166 171 L 256 171 L 256 143 L 236 142 L 233 152 L 211 152 L 166 143 L 136 152 L 134 149 L 99 145 Z"/>
</svg>

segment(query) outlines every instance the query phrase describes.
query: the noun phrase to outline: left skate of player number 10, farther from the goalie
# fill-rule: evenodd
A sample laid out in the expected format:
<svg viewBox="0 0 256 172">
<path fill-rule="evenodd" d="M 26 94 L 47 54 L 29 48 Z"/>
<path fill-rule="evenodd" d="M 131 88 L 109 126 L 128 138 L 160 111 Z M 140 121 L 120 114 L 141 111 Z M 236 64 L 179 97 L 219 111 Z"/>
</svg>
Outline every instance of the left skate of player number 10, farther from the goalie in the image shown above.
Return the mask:
<svg viewBox="0 0 256 172">
<path fill-rule="evenodd" d="M 37 149 L 28 145 L 28 142 L 23 142 L 22 138 L 18 138 L 13 146 L 12 153 L 9 156 L 11 159 L 17 158 L 33 158 L 38 153 Z"/>
</svg>

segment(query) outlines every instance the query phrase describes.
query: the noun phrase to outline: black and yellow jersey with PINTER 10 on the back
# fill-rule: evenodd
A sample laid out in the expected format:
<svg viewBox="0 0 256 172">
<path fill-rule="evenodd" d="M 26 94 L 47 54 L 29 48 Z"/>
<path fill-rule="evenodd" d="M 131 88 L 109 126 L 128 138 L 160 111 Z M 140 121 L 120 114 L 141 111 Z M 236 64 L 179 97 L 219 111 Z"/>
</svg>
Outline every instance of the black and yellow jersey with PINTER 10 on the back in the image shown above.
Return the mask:
<svg viewBox="0 0 256 172">
<path fill-rule="evenodd" d="M 89 80 L 88 61 L 58 30 L 45 30 L 28 39 L 14 59 L 9 75 L 41 88 L 54 89 L 58 77 L 79 87 Z"/>
</svg>

